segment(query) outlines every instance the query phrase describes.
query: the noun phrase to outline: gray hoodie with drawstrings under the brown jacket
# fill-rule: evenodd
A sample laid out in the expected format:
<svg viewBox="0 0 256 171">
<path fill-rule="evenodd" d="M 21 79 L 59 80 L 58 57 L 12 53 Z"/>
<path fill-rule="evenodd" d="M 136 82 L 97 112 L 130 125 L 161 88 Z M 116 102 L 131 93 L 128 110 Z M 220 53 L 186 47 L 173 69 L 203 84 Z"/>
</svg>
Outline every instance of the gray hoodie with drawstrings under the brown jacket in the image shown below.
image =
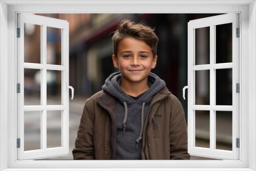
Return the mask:
<svg viewBox="0 0 256 171">
<path fill-rule="evenodd" d="M 102 89 L 117 99 L 117 153 L 116 160 L 141 159 L 141 139 L 144 120 L 153 96 L 165 87 L 165 82 L 156 74 L 148 75 L 150 87 L 138 97 L 125 94 L 120 88 L 121 73 L 115 72 L 106 80 Z M 143 119 L 141 119 L 143 118 Z"/>
</svg>

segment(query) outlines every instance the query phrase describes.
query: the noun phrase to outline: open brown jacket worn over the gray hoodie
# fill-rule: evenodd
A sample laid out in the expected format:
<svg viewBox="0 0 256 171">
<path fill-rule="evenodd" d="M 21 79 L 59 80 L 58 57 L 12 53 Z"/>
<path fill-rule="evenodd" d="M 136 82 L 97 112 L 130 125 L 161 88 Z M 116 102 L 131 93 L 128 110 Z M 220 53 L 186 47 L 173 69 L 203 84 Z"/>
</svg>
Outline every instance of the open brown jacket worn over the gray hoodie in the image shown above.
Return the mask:
<svg viewBox="0 0 256 171">
<path fill-rule="evenodd" d="M 73 156 L 108 160 L 116 156 L 116 100 L 100 91 L 86 101 Z M 154 95 L 143 127 L 142 160 L 189 159 L 187 128 L 180 101 L 165 87 Z"/>
</svg>

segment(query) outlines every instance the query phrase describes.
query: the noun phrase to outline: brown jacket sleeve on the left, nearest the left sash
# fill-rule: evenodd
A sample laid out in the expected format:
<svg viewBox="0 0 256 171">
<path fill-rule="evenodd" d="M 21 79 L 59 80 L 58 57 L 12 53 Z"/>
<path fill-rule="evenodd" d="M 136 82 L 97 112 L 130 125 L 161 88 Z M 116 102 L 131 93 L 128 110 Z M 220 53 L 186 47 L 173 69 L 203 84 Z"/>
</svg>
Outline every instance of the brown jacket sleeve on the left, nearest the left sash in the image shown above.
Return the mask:
<svg viewBox="0 0 256 171">
<path fill-rule="evenodd" d="M 84 105 L 80 125 L 77 131 L 75 148 L 72 153 L 74 160 L 94 160 L 94 144 L 93 144 L 94 119 L 89 112 L 87 102 Z"/>
</svg>

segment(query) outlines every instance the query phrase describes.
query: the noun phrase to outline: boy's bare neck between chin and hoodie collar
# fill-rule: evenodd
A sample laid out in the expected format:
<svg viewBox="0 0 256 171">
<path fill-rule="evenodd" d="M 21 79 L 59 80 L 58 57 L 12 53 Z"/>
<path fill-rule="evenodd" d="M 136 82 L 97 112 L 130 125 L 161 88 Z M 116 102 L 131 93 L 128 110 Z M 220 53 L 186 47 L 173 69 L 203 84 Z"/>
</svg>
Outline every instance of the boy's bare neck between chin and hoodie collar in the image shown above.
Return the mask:
<svg viewBox="0 0 256 171">
<path fill-rule="evenodd" d="M 147 78 L 141 82 L 130 82 L 122 79 L 120 87 L 124 93 L 133 97 L 137 97 L 149 89 L 147 85 Z"/>
</svg>

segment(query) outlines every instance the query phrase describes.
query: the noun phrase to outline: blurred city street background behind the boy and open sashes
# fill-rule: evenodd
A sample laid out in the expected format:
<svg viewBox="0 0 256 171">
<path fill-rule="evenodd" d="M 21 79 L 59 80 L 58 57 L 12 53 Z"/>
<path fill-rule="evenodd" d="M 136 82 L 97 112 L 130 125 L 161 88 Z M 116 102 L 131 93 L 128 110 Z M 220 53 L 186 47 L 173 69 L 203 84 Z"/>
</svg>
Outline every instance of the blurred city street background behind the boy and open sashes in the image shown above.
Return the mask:
<svg viewBox="0 0 256 171">
<path fill-rule="evenodd" d="M 182 88 L 187 85 L 187 22 L 219 14 L 37 14 L 64 19 L 69 22 L 69 84 L 74 88 L 70 96 L 69 133 L 70 153 L 47 160 L 73 160 L 72 149 L 87 98 L 101 90 L 104 80 L 113 72 L 113 32 L 122 19 L 155 28 L 159 37 L 157 67 L 152 70 L 162 78 L 167 88 L 181 101 L 187 119 L 187 100 Z M 217 35 L 227 45 L 219 44 L 219 58 L 232 61 L 230 26 L 218 29 Z M 218 36 L 217 36 L 218 38 Z M 198 64 L 209 60 L 209 29 L 197 29 Z M 222 41 L 221 41 L 222 42 Z M 25 62 L 40 63 L 40 26 L 25 25 Z M 217 48 L 218 49 L 218 48 Z M 232 50 L 232 49 L 231 49 Z M 61 30 L 47 28 L 47 63 L 61 65 Z M 40 105 L 40 70 L 25 69 L 25 105 Z M 230 78 L 231 74 L 231 78 Z M 217 104 L 232 105 L 232 71 L 217 72 Z M 196 72 L 196 104 L 209 104 L 209 72 Z M 71 92 L 71 91 L 70 91 Z M 223 96 L 225 98 L 223 98 Z M 230 104 L 231 100 L 231 104 Z M 47 71 L 47 104 L 61 104 L 61 71 Z M 232 112 L 217 112 L 217 148 L 231 150 Z M 61 144 L 61 111 L 47 115 L 47 147 Z M 209 147 L 209 111 L 196 111 L 196 146 Z M 25 150 L 40 148 L 40 112 L 25 113 Z M 191 156 L 191 159 L 210 159 Z"/>
</svg>

